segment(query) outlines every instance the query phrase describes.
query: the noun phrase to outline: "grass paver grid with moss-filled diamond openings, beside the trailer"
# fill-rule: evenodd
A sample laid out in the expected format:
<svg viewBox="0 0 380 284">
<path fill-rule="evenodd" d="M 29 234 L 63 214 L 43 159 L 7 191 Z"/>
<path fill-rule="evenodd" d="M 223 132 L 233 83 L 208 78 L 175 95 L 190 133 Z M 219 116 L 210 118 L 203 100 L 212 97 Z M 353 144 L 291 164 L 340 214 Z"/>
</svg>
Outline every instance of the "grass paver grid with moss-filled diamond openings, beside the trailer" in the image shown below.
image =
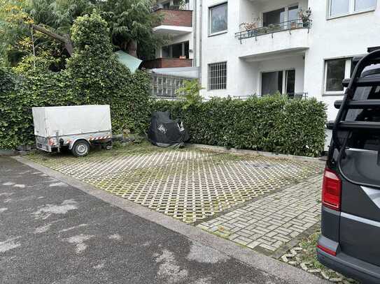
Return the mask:
<svg viewBox="0 0 380 284">
<path fill-rule="evenodd" d="M 85 158 L 39 153 L 29 159 L 185 223 L 209 218 L 322 170 L 319 163 L 298 160 L 146 145 Z M 239 220 L 242 227 L 255 218 L 247 217 Z"/>
</svg>

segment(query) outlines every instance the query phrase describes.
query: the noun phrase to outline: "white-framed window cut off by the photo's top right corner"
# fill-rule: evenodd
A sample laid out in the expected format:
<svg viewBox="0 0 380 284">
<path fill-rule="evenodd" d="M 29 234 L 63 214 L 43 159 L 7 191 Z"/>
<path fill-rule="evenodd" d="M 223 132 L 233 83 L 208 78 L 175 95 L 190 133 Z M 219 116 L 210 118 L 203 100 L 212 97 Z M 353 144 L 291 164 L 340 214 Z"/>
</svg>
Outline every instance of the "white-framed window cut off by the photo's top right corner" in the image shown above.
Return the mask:
<svg viewBox="0 0 380 284">
<path fill-rule="evenodd" d="M 336 17 L 360 13 L 376 8 L 377 0 L 328 0 L 329 16 Z"/>
</svg>

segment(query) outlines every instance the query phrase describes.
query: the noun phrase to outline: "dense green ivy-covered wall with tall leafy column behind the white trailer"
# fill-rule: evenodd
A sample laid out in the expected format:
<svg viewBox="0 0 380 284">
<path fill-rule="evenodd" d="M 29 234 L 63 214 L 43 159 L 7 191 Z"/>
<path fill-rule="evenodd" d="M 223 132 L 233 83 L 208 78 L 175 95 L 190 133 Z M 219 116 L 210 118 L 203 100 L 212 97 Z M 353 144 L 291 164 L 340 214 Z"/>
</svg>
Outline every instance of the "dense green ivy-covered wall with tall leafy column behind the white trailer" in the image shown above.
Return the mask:
<svg viewBox="0 0 380 284">
<path fill-rule="evenodd" d="M 0 149 L 34 142 L 31 107 L 109 104 L 115 133 L 145 132 L 148 75 L 131 74 L 118 62 L 107 24 L 97 13 L 78 17 L 72 29 L 75 51 L 66 70 L 16 74 L 0 69 Z"/>
</svg>

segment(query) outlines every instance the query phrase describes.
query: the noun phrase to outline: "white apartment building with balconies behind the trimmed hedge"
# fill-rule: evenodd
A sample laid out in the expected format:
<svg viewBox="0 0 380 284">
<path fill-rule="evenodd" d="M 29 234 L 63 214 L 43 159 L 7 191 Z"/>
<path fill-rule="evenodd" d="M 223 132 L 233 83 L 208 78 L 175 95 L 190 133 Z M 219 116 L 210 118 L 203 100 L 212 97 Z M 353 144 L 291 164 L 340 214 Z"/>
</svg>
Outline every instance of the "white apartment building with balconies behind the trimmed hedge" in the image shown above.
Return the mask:
<svg viewBox="0 0 380 284">
<path fill-rule="evenodd" d="M 328 105 L 332 120 L 337 114 L 334 102 L 344 94 L 342 80 L 351 75 L 351 59 L 367 53 L 367 47 L 380 46 L 377 0 L 190 0 L 186 4 L 192 10 L 191 29 L 175 21 L 171 27 L 157 27 L 156 32 L 171 33 L 173 46 L 162 47 L 156 55 L 174 57 L 181 50 L 181 56 L 192 59 L 206 98 L 276 91 L 315 97 Z M 303 21 L 298 11 L 308 8 L 310 21 Z M 184 42 L 188 47 L 175 46 Z"/>
</svg>

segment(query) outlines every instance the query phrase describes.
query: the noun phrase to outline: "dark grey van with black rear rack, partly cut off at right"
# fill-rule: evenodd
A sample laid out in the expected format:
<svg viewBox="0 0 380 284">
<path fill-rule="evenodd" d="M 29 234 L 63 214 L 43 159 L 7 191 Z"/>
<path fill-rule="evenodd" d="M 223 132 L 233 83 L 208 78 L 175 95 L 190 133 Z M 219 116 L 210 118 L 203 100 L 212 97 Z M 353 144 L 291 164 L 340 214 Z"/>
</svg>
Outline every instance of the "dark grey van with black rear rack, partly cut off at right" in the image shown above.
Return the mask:
<svg viewBox="0 0 380 284">
<path fill-rule="evenodd" d="M 380 48 L 353 59 L 344 80 L 323 178 L 318 260 L 363 283 L 380 283 Z"/>
</svg>

